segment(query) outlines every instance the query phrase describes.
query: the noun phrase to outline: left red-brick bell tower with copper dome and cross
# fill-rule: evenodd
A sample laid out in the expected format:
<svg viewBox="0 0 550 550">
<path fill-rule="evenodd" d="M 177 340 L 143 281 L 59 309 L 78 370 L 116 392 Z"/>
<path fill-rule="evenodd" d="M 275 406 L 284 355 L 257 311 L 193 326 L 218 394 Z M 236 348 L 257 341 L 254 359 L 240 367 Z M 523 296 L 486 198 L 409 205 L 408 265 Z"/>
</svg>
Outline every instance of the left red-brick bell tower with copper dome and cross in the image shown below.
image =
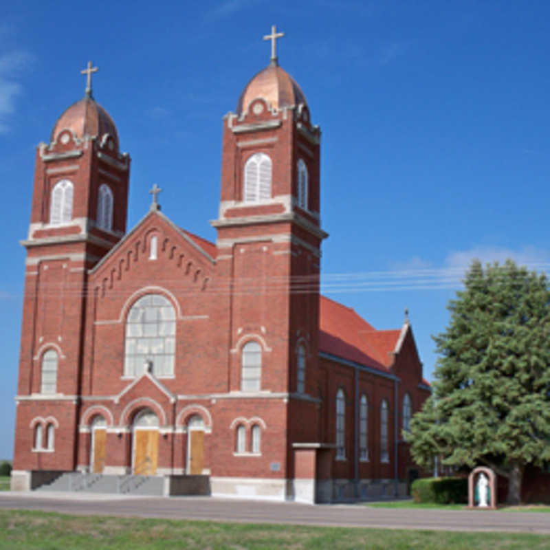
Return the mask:
<svg viewBox="0 0 550 550">
<path fill-rule="evenodd" d="M 50 410 L 67 420 L 58 422 L 67 432 L 56 434 L 67 448 L 75 446 L 69 441 L 76 434 L 87 272 L 126 231 L 130 158 L 119 152 L 116 126 L 92 95 L 97 70 L 88 63 L 85 96 L 58 118 L 50 142 L 36 148 L 30 225 L 21 242 L 27 259 L 16 432 Z M 50 455 L 18 445 L 20 470 L 74 469 L 74 456 L 59 463 L 56 455 L 50 465 Z"/>
</svg>

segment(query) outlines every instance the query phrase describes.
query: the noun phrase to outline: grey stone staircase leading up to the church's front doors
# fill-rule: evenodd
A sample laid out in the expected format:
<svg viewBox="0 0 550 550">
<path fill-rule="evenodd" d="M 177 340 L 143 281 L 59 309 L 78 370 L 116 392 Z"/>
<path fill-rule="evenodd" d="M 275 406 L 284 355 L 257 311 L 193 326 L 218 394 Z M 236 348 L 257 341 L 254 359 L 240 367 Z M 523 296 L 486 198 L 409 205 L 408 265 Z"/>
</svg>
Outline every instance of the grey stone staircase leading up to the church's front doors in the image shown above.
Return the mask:
<svg viewBox="0 0 550 550">
<path fill-rule="evenodd" d="M 66 472 L 36 491 L 163 496 L 164 476 L 117 476 Z"/>
</svg>

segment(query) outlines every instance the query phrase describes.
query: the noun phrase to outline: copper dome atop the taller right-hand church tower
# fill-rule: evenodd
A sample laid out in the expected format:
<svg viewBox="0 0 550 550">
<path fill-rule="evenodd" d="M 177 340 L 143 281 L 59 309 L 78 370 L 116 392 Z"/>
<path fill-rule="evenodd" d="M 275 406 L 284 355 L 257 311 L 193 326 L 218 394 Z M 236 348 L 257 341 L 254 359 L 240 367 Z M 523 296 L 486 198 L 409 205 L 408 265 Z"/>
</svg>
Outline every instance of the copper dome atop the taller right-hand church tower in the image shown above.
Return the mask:
<svg viewBox="0 0 550 550">
<path fill-rule="evenodd" d="M 307 105 L 304 93 L 296 80 L 274 64 L 265 67 L 245 86 L 237 103 L 236 113 L 241 115 L 256 98 L 265 99 L 274 109 L 292 107 L 300 103 Z"/>
</svg>

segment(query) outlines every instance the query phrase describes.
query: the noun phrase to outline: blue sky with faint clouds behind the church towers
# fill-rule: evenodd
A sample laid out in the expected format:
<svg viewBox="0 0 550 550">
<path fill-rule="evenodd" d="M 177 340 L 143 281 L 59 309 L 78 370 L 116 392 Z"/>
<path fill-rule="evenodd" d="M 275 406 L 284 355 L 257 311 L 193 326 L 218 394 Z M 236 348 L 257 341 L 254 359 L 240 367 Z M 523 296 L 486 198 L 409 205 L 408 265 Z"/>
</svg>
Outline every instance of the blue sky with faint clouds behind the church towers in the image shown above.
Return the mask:
<svg viewBox="0 0 550 550">
<path fill-rule="evenodd" d="M 221 117 L 269 62 L 322 130 L 325 294 L 379 329 L 410 309 L 424 373 L 474 257 L 550 265 L 550 4 L 544 1 L 58 1 L 0 8 L 0 458 L 12 454 L 34 150 L 83 96 L 132 157 L 129 228 L 153 182 L 175 223 L 215 232 Z M 52 7 L 54 6 L 54 7 Z M 338 292 L 337 292 L 338 291 Z"/>
</svg>

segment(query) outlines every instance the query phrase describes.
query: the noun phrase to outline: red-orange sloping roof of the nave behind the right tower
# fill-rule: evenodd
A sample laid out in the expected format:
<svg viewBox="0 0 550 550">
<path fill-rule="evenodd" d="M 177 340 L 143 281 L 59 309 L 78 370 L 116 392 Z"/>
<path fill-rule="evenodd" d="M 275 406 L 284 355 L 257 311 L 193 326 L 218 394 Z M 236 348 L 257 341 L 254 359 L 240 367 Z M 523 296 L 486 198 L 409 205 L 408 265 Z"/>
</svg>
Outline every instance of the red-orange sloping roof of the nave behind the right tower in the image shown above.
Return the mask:
<svg viewBox="0 0 550 550">
<path fill-rule="evenodd" d="M 388 372 L 401 330 L 377 331 L 351 307 L 319 300 L 319 350 Z"/>
</svg>

